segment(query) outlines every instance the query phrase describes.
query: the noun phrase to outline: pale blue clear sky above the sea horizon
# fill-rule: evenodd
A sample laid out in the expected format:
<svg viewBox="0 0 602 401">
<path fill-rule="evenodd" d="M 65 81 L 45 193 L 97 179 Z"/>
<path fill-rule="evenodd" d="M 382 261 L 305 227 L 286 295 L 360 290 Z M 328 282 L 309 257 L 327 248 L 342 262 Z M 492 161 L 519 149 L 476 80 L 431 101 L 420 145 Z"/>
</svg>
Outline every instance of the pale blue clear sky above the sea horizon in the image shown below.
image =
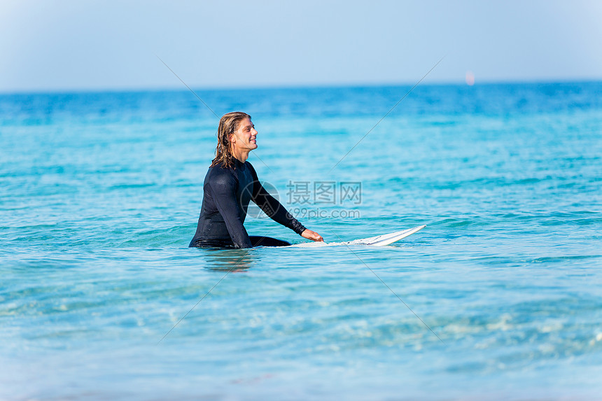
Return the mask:
<svg viewBox="0 0 602 401">
<path fill-rule="evenodd" d="M 602 79 L 602 1 L 0 0 L 0 92 Z M 160 59 L 165 64 L 163 64 Z"/>
</svg>

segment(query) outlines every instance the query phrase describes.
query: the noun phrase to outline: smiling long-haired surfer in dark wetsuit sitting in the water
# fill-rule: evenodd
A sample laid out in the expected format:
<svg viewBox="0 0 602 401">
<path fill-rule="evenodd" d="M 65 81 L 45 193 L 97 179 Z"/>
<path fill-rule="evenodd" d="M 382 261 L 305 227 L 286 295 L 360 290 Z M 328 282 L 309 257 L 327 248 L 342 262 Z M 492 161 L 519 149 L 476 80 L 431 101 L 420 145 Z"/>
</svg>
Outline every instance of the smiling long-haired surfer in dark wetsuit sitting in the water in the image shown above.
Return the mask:
<svg viewBox="0 0 602 401">
<path fill-rule="evenodd" d="M 243 224 L 251 200 L 276 223 L 301 237 L 323 241 L 320 234 L 303 227 L 260 184 L 255 169 L 246 161 L 248 153 L 257 147 L 257 131 L 251 115 L 236 111 L 222 116 L 216 158 L 205 176 L 199 223 L 190 246 L 251 248 L 290 245 L 280 239 L 247 234 Z"/>
</svg>

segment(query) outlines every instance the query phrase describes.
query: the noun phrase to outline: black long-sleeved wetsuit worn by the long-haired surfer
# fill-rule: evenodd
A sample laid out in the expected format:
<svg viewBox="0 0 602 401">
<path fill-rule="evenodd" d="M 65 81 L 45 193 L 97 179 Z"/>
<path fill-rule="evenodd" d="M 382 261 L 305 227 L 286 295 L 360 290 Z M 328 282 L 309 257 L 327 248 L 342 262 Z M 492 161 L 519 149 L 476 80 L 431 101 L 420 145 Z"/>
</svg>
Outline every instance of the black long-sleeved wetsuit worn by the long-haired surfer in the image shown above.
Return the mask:
<svg viewBox="0 0 602 401">
<path fill-rule="evenodd" d="M 263 188 L 251 163 L 241 163 L 237 159 L 234 162 L 230 169 L 209 167 L 203 183 L 199 224 L 190 246 L 251 248 L 290 245 L 279 239 L 248 236 L 243 223 L 251 200 L 272 220 L 297 234 L 301 234 L 305 227 Z"/>
</svg>

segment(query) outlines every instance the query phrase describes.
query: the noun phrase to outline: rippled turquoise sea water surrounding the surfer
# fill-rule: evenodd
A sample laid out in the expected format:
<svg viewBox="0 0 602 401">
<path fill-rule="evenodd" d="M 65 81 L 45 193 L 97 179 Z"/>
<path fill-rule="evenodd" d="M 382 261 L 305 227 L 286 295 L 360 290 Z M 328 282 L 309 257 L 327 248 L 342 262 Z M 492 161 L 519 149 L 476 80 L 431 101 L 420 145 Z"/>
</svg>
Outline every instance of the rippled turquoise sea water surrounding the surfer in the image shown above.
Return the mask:
<svg viewBox="0 0 602 401">
<path fill-rule="evenodd" d="M 197 91 L 327 241 L 428 225 L 250 251 L 187 248 L 217 127 L 190 92 L 1 95 L 0 398 L 599 398 L 602 83 L 422 85 L 360 141 L 407 90 Z"/>
</svg>

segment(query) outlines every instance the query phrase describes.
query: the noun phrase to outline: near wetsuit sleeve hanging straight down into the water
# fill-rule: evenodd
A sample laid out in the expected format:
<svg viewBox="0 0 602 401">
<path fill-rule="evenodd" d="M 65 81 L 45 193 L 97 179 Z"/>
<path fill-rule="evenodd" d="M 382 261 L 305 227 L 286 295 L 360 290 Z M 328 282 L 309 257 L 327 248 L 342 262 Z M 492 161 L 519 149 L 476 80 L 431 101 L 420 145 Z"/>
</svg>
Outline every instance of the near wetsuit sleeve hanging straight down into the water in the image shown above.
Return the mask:
<svg viewBox="0 0 602 401">
<path fill-rule="evenodd" d="M 218 176 L 207 183 L 207 189 L 213 197 L 216 207 L 222 215 L 228 234 L 235 247 L 251 248 L 251 239 L 240 219 L 239 206 L 236 199 L 236 181 L 233 177 Z"/>
</svg>

